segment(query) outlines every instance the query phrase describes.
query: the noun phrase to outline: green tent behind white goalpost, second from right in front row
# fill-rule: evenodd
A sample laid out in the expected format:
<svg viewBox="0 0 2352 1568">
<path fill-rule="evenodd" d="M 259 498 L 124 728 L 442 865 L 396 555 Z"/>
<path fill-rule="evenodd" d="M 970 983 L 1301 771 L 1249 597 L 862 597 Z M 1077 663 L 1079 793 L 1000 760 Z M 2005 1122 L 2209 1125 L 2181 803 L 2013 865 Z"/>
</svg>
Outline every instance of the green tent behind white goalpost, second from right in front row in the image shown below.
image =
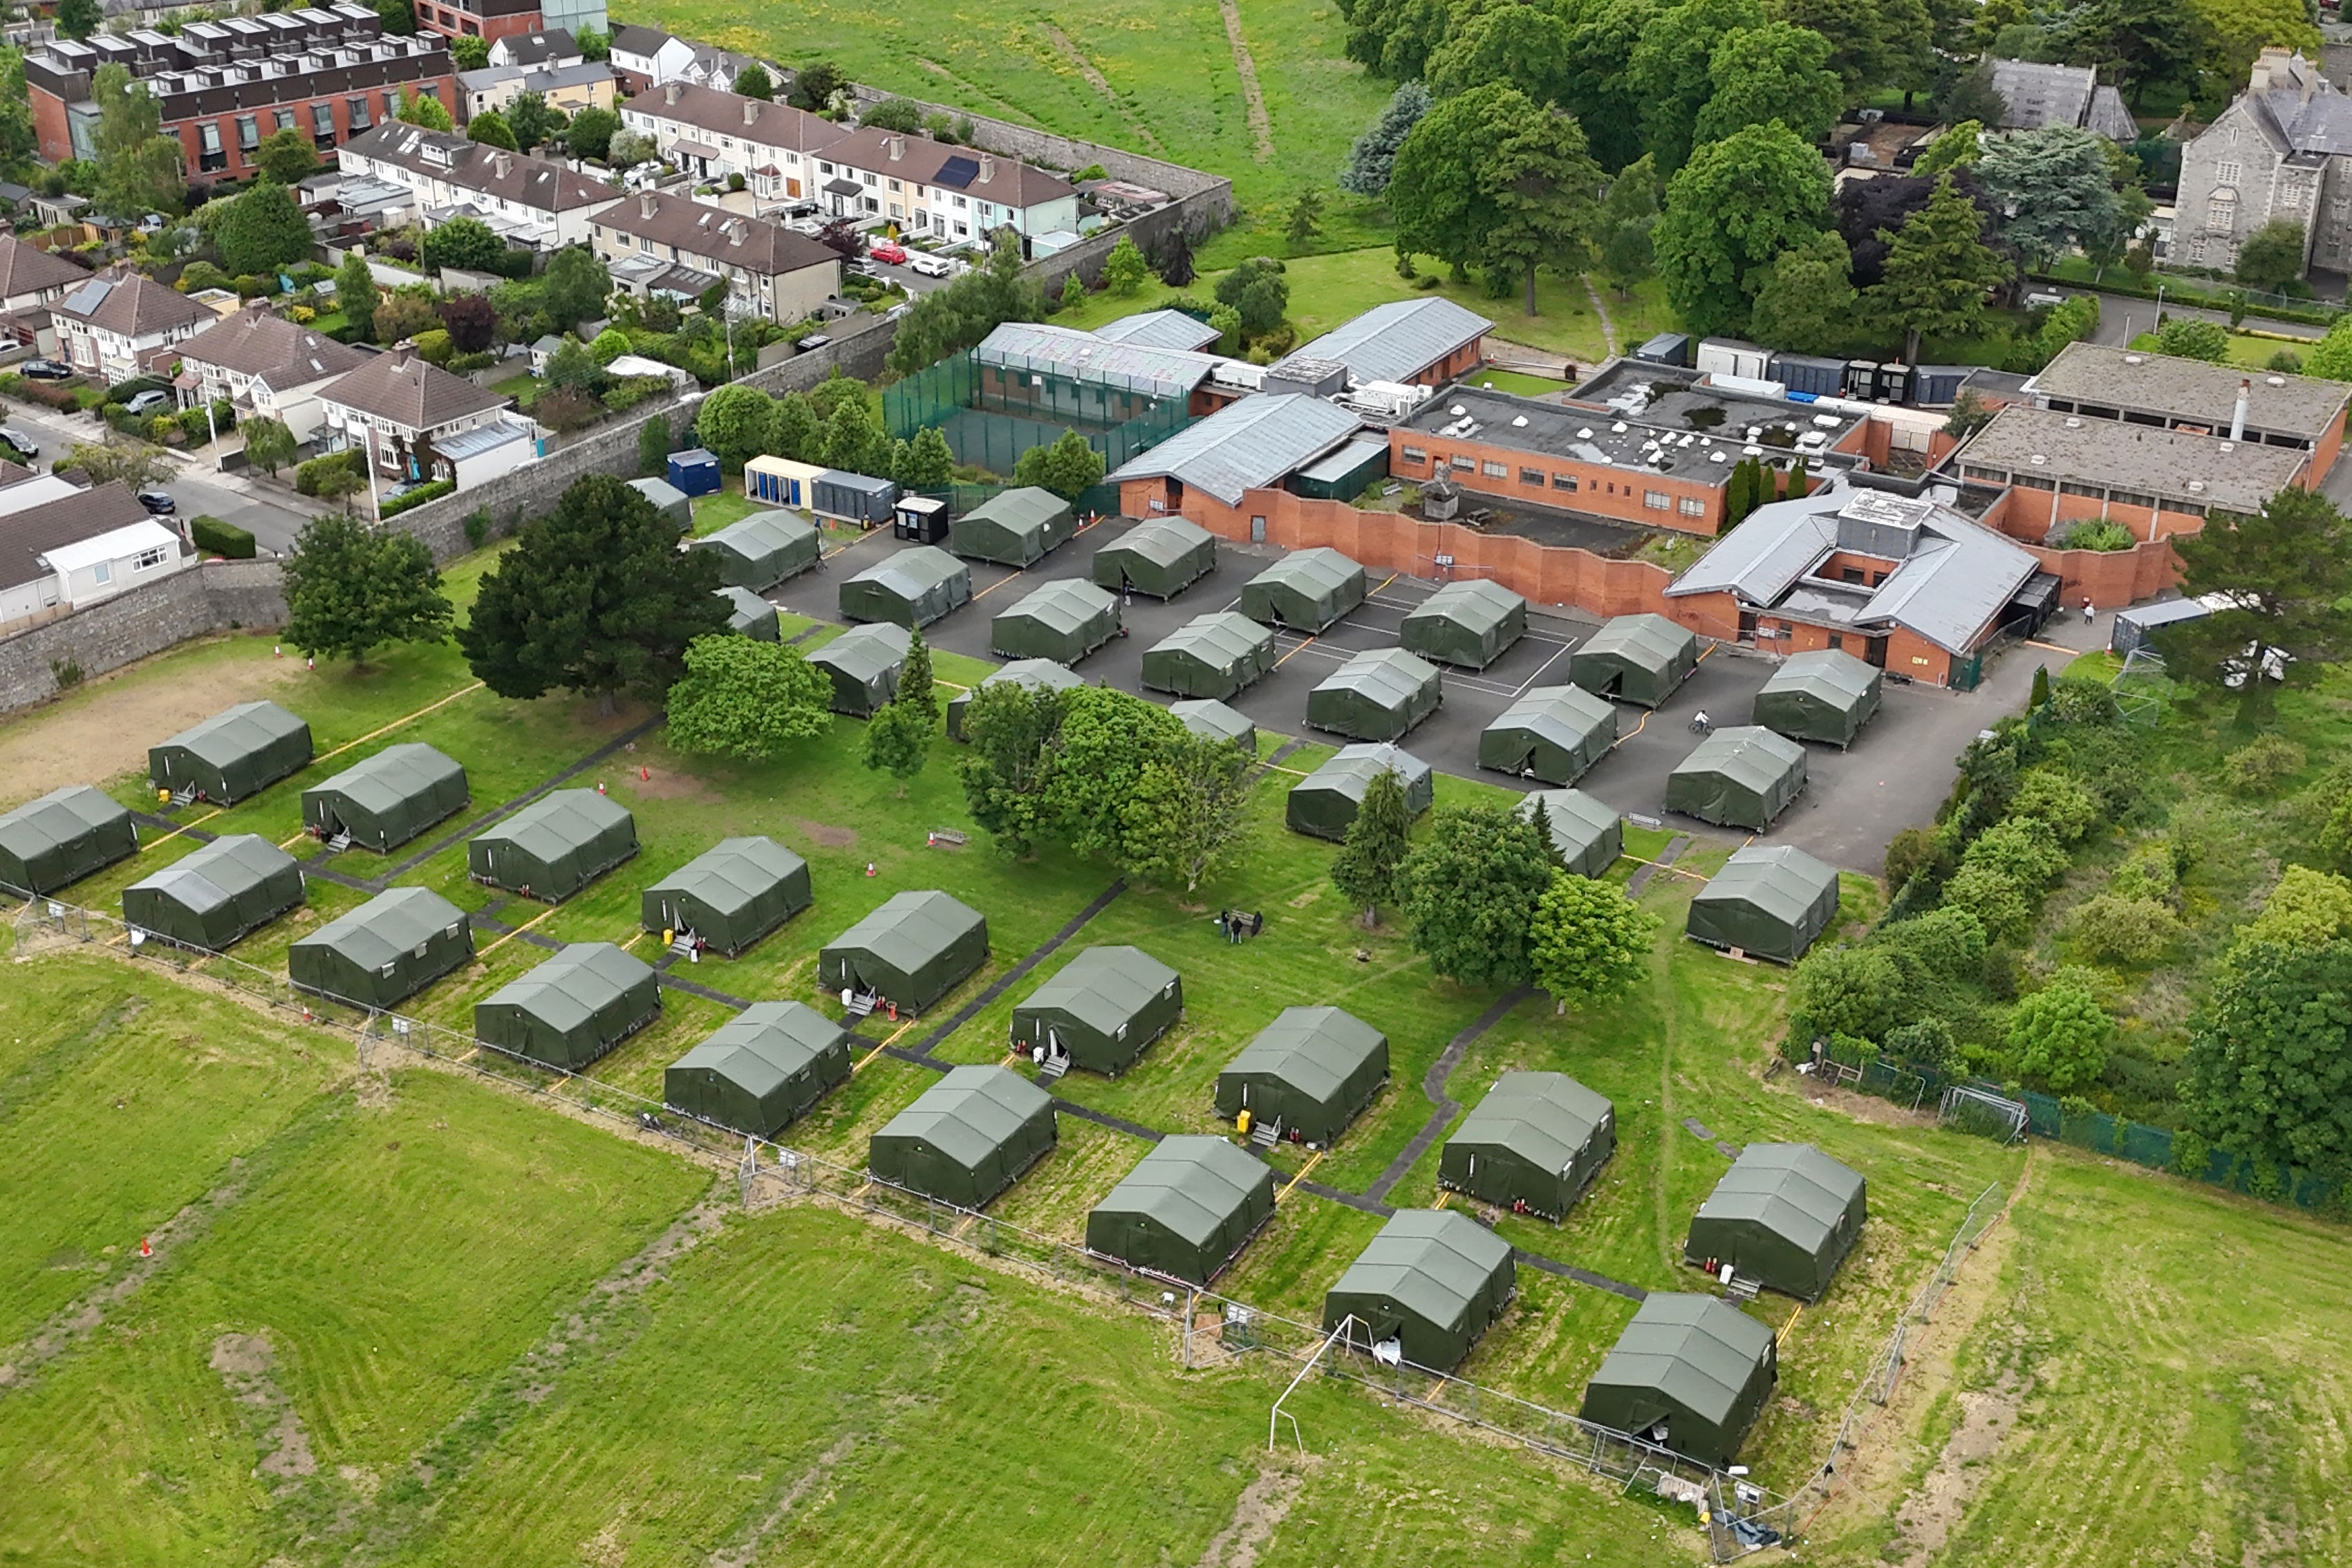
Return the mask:
<svg viewBox="0 0 2352 1568">
<path fill-rule="evenodd" d="M 1355 1319 L 1357 1349 L 1395 1340 L 1404 1361 L 1449 1373 L 1517 1286 L 1503 1237 L 1449 1208 L 1399 1208 L 1324 1293 L 1324 1333 Z"/>
</svg>

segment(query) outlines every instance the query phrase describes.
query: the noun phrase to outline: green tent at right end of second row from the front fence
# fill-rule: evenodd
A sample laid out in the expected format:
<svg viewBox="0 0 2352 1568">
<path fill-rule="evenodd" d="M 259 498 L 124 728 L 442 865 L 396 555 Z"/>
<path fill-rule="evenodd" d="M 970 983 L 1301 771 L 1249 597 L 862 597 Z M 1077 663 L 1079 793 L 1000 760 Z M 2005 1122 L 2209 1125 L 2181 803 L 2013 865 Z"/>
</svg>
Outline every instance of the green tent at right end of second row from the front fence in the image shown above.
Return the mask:
<svg viewBox="0 0 2352 1568">
<path fill-rule="evenodd" d="M 1867 1182 L 1809 1143 L 1750 1143 L 1691 1215 L 1686 1262 L 1820 1300 L 1870 1218 Z"/>
</svg>

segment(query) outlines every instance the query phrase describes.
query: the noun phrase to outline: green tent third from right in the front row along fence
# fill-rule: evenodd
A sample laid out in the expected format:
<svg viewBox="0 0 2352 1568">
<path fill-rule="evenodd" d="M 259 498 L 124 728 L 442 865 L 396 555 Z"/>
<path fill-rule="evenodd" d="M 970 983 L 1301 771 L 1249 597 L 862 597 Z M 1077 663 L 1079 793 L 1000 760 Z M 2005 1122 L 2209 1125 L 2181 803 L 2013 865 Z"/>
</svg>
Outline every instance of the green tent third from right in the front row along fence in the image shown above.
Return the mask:
<svg viewBox="0 0 2352 1568">
<path fill-rule="evenodd" d="M 1087 1251 L 1209 1288 L 1272 1218 L 1272 1166 L 1225 1138 L 1178 1133 L 1087 1213 Z"/>
</svg>

